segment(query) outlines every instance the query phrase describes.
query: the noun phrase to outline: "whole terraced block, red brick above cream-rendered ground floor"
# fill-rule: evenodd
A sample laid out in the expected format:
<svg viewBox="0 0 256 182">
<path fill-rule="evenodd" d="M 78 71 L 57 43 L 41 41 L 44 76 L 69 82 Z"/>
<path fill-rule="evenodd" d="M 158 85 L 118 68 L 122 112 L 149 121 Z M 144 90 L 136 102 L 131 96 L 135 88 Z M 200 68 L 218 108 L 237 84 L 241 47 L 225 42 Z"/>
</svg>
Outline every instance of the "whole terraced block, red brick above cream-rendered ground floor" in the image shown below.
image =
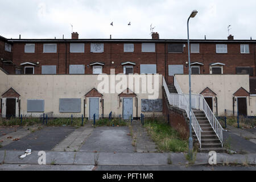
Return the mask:
<svg viewBox="0 0 256 182">
<path fill-rule="evenodd" d="M 256 115 L 256 40 L 191 40 L 193 130 L 214 133 L 222 144 L 216 115 Z M 0 37 L 1 113 L 169 114 L 185 123 L 188 111 L 186 39 L 7 39 Z M 158 78 L 156 97 L 123 88 L 102 93 L 98 75 Z M 111 80 L 111 78 L 110 78 Z M 140 82 L 141 86 L 143 82 Z M 126 92 L 129 91 L 129 92 Z M 200 122 L 201 121 L 201 122 Z M 206 123 L 205 123 L 206 122 Z M 219 143 L 218 143 L 219 144 Z M 217 145 L 218 145 L 217 144 Z"/>
</svg>

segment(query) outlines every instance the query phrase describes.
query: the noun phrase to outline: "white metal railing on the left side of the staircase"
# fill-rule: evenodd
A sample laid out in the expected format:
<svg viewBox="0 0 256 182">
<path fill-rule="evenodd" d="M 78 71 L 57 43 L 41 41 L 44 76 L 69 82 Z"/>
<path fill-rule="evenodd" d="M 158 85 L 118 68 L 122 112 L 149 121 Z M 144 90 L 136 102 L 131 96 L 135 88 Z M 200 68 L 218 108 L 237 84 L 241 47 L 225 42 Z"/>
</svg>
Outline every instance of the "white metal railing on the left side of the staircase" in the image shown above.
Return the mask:
<svg viewBox="0 0 256 182">
<path fill-rule="evenodd" d="M 164 90 L 166 91 L 166 95 L 167 95 L 169 104 L 185 110 L 188 115 L 188 118 L 189 118 L 189 103 L 188 103 L 188 100 L 187 100 L 185 94 L 170 93 L 168 86 L 166 84 L 166 80 L 164 80 L 164 77 L 163 77 L 163 86 L 164 86 Z M 193 127 L 193 130 L 195 131 L 197 139 L 199 140 L 200 148 L 201 148 L 201 131 L 203 131 L 203 130 L 201 129 L 199 123 L 197 122 L 195 114 L 193 113 L 192 110 L 191 110 L 191 125 Z"/>
</svg>

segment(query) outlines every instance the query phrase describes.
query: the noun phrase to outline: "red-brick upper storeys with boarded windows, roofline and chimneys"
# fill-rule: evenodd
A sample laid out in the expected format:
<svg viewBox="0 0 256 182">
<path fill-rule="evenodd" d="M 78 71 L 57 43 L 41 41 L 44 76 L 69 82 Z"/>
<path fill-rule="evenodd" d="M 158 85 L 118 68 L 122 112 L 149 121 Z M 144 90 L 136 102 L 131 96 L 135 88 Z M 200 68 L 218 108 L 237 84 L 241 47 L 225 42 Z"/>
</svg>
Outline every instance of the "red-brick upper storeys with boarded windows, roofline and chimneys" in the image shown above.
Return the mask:
<svg viewBox="0 0 256 182">
<path fill-rule="evenodd" d="M 256 76 L 255 40 L 191 40 L 192 74 Z M 1 67 L 13 74 L 159 73 L 173 82 L 188 73 L 186 39 L 6 39 Z"/>
</svg>

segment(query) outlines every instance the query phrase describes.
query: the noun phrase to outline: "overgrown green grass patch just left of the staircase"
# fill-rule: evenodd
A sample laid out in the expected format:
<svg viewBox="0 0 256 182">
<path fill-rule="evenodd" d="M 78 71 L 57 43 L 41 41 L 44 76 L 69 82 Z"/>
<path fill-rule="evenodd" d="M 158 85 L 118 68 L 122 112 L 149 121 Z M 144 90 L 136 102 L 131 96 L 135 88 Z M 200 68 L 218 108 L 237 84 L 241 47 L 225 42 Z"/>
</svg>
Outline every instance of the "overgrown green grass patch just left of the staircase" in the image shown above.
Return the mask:
<svg viewBox="0 0 256 182">
<path fill-rule="evenodd" d="M 162 118 L 145 118 L 146 127 L 159 151 L 185 152 L 188 151 L 188 140 L 181 139 L 180 134 Z"/>
</svg>

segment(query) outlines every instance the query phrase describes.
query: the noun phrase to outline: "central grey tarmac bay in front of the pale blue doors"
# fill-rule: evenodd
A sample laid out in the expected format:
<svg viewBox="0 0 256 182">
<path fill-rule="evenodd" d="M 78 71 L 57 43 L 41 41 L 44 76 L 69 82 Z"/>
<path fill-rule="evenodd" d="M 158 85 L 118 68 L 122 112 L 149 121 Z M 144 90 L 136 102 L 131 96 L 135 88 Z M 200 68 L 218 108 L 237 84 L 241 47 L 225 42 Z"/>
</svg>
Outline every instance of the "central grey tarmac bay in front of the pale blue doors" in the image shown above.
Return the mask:
<svg viewBox="0 0 256 182">
<path fill-rule="evenodd" d="M 86 139 L 80 151 L 86 152 L 134 152 L 129 127 L 100 126 Z"/>
</svg>

